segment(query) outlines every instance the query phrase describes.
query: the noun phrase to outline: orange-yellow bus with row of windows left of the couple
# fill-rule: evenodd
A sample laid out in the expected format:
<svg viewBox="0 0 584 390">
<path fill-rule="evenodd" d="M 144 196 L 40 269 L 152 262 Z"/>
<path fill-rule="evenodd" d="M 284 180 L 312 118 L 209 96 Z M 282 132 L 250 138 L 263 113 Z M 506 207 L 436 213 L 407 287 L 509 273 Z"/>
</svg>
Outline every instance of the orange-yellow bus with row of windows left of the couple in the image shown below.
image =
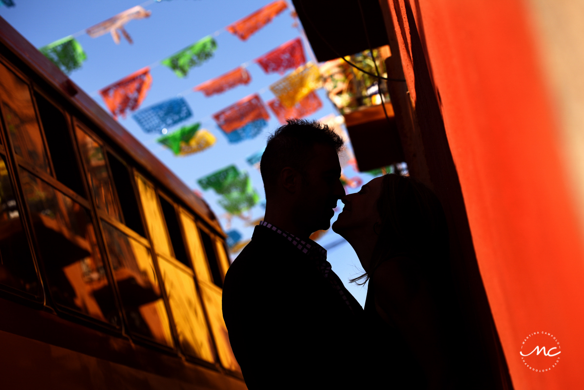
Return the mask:
<svg viewBox="0 0 584 390">
<path fill-rule="evenodd" d="M 245 389 L 208 205 L 0 18 L 0 387 Z"/>
</svg>

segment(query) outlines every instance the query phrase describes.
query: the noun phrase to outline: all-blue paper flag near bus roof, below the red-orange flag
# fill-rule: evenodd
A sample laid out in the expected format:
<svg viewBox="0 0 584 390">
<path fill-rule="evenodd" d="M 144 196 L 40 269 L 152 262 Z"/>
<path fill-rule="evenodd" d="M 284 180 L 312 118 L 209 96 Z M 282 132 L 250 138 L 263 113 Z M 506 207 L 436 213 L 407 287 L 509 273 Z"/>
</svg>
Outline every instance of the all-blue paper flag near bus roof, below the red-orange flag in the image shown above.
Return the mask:
<svg viewBox="0 0 584 390">
<path fill-rule="evenodd" d="M 145 133 L 162 133 L 162 129 L 169 128 L 193 116 L 184 97 L 175 97 L 146 107 L 132 117 L 138 122 Z"/>
</svg>

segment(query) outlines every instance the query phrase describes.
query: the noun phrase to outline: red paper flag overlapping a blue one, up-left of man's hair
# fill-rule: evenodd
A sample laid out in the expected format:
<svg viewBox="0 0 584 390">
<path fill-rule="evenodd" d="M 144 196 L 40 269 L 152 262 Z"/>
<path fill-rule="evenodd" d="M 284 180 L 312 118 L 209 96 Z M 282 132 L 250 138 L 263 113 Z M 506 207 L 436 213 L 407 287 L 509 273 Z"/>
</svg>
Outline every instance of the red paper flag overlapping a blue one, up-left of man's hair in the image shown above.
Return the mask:
<svg viewBox="0 0 584 390">
<path fill-rule="evenodd" d="M 213 114 L 217 126 L 225 133 L 244 127 L 246 124 L 264 119 L 269 120 L 270 114 L 267 113 L 262 99 L 256 93 L 239 100 L 239 102 Z"/>
</svg>

